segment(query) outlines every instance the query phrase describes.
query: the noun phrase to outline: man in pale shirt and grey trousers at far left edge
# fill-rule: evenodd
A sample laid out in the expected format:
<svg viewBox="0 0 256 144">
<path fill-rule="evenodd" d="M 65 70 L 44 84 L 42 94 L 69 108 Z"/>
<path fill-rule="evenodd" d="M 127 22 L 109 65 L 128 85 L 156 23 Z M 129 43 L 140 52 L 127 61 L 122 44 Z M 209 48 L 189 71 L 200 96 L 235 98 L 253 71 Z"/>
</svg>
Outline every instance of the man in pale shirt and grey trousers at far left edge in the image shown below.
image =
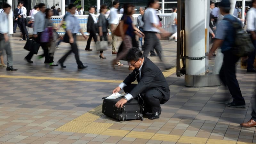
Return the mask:
<svg viewBox="0 0 256 144">
<path fill-rule="evenodd" d="M 5 3 L 3 5 L 3 10 L 0 14 L 0 56 L 3 55 L 3 51 L 5 50 L 7 56 L 7 71 L 16 71 L 18 69 L 13 68 L 13 58 L 12 58 L 12 49 L 8 38 L 8 27 L 9 20 L 8 15 L 11 11 L 11 5 Z"/>
</svg>

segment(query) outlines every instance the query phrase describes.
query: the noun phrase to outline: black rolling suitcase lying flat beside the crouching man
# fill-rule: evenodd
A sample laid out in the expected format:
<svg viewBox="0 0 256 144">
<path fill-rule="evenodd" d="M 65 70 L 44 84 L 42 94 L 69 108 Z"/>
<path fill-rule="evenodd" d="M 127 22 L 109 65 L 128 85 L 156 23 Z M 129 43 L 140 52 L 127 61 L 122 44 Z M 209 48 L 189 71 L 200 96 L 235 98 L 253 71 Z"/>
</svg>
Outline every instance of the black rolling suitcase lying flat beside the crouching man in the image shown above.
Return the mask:
<svg viewBox="0 0 256 144">
<path fill-rule="evenodd" d="M 115 104 L 118 100 L 122 99 L 123 97 L 117 99 L 105 99 L 107 97 L 102 98 L 102 113 L 106 116 L 112 117 L 119 121 L 126 121 L 126 120 L 134 120 L 139 119 L 143 121 L 143 107 L 139 105 L 137 100 L 129 100 L 127 103 L 124 104 L 123 108 L 116 108 Z"/>
</svg>

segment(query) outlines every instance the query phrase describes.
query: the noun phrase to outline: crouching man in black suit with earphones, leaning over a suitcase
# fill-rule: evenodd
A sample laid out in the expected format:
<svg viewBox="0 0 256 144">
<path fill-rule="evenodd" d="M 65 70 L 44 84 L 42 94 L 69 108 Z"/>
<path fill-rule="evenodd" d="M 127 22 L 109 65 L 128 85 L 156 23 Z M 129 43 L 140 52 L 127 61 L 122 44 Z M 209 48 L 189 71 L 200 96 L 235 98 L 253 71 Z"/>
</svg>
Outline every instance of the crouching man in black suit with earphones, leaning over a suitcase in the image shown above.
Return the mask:
<svg viewBox="0 0 256 144">
<path fill-rule="evenodd" d="M 146 107 L 144 113 L 152 111 L 148 119 L 159 118 L 161 115 L 160 104 L 164 104 L 170 99 L 169 85 L 163 73 L 151 60 L 143 57 L 138 48 L 130 49 L 126 60 L 135 69 L 123 83 L 113 90 L 113 93 L 116 93 L 124 88 L 124 92 L 128 93 L 123 99 L 116 102 L 116 107 L 123 107 L 131 99 L 138 99 L 140 104 Z M 135 80 L 138 81 L 138 84 L 132 84 Z"/>
</svg>

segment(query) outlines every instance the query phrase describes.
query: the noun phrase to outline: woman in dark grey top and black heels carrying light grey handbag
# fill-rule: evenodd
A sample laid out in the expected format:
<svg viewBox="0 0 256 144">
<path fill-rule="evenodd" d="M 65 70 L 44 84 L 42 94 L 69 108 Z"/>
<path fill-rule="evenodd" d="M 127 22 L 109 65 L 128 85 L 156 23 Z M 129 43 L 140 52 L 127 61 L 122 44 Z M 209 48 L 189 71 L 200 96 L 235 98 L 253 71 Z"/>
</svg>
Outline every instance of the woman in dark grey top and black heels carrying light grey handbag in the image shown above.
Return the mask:
<svg viewBox="0 0 256 144">
<path fill-rule="evenodd" d="M 108 34 L 108 26 L 107 26 L 107 21 L 104 16 L 107 12 L 107 6 L 106 5 L 101 5 L 100 7 L 100 16 L 99 16 L 99 36 L 100 36 L 100 41 L 108 41 L 107 34 Z M 103 51 L 100 51 L 100 58 L 106 59 L 106 57 L 103 55 Z"/>
</svg>

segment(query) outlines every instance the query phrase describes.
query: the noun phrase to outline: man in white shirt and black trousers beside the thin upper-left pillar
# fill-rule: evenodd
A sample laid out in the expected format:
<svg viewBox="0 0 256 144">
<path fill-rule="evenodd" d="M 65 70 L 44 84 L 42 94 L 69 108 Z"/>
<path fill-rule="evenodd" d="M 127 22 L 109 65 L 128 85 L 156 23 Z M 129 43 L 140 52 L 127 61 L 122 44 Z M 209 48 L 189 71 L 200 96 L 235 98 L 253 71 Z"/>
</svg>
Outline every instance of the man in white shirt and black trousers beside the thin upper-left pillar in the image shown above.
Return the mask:
<svg viewBox="0 0 256 144">
<path fill-rule="evenodd" d="M 18 16 L 18 21 L 20 22 L 20 28 L 21 28 L 21 32 L 22 32 L 22 39 L 20 39 L 20 41 L 26 41 L 26 37 L 28 39 L 28 30 L 26 28 L 26 17 L 27 17 L 27 9 L 23 6 L 24 2 L 20 1 L 20 10 L 19 10 L 19 16 Z"/>
</svg>

